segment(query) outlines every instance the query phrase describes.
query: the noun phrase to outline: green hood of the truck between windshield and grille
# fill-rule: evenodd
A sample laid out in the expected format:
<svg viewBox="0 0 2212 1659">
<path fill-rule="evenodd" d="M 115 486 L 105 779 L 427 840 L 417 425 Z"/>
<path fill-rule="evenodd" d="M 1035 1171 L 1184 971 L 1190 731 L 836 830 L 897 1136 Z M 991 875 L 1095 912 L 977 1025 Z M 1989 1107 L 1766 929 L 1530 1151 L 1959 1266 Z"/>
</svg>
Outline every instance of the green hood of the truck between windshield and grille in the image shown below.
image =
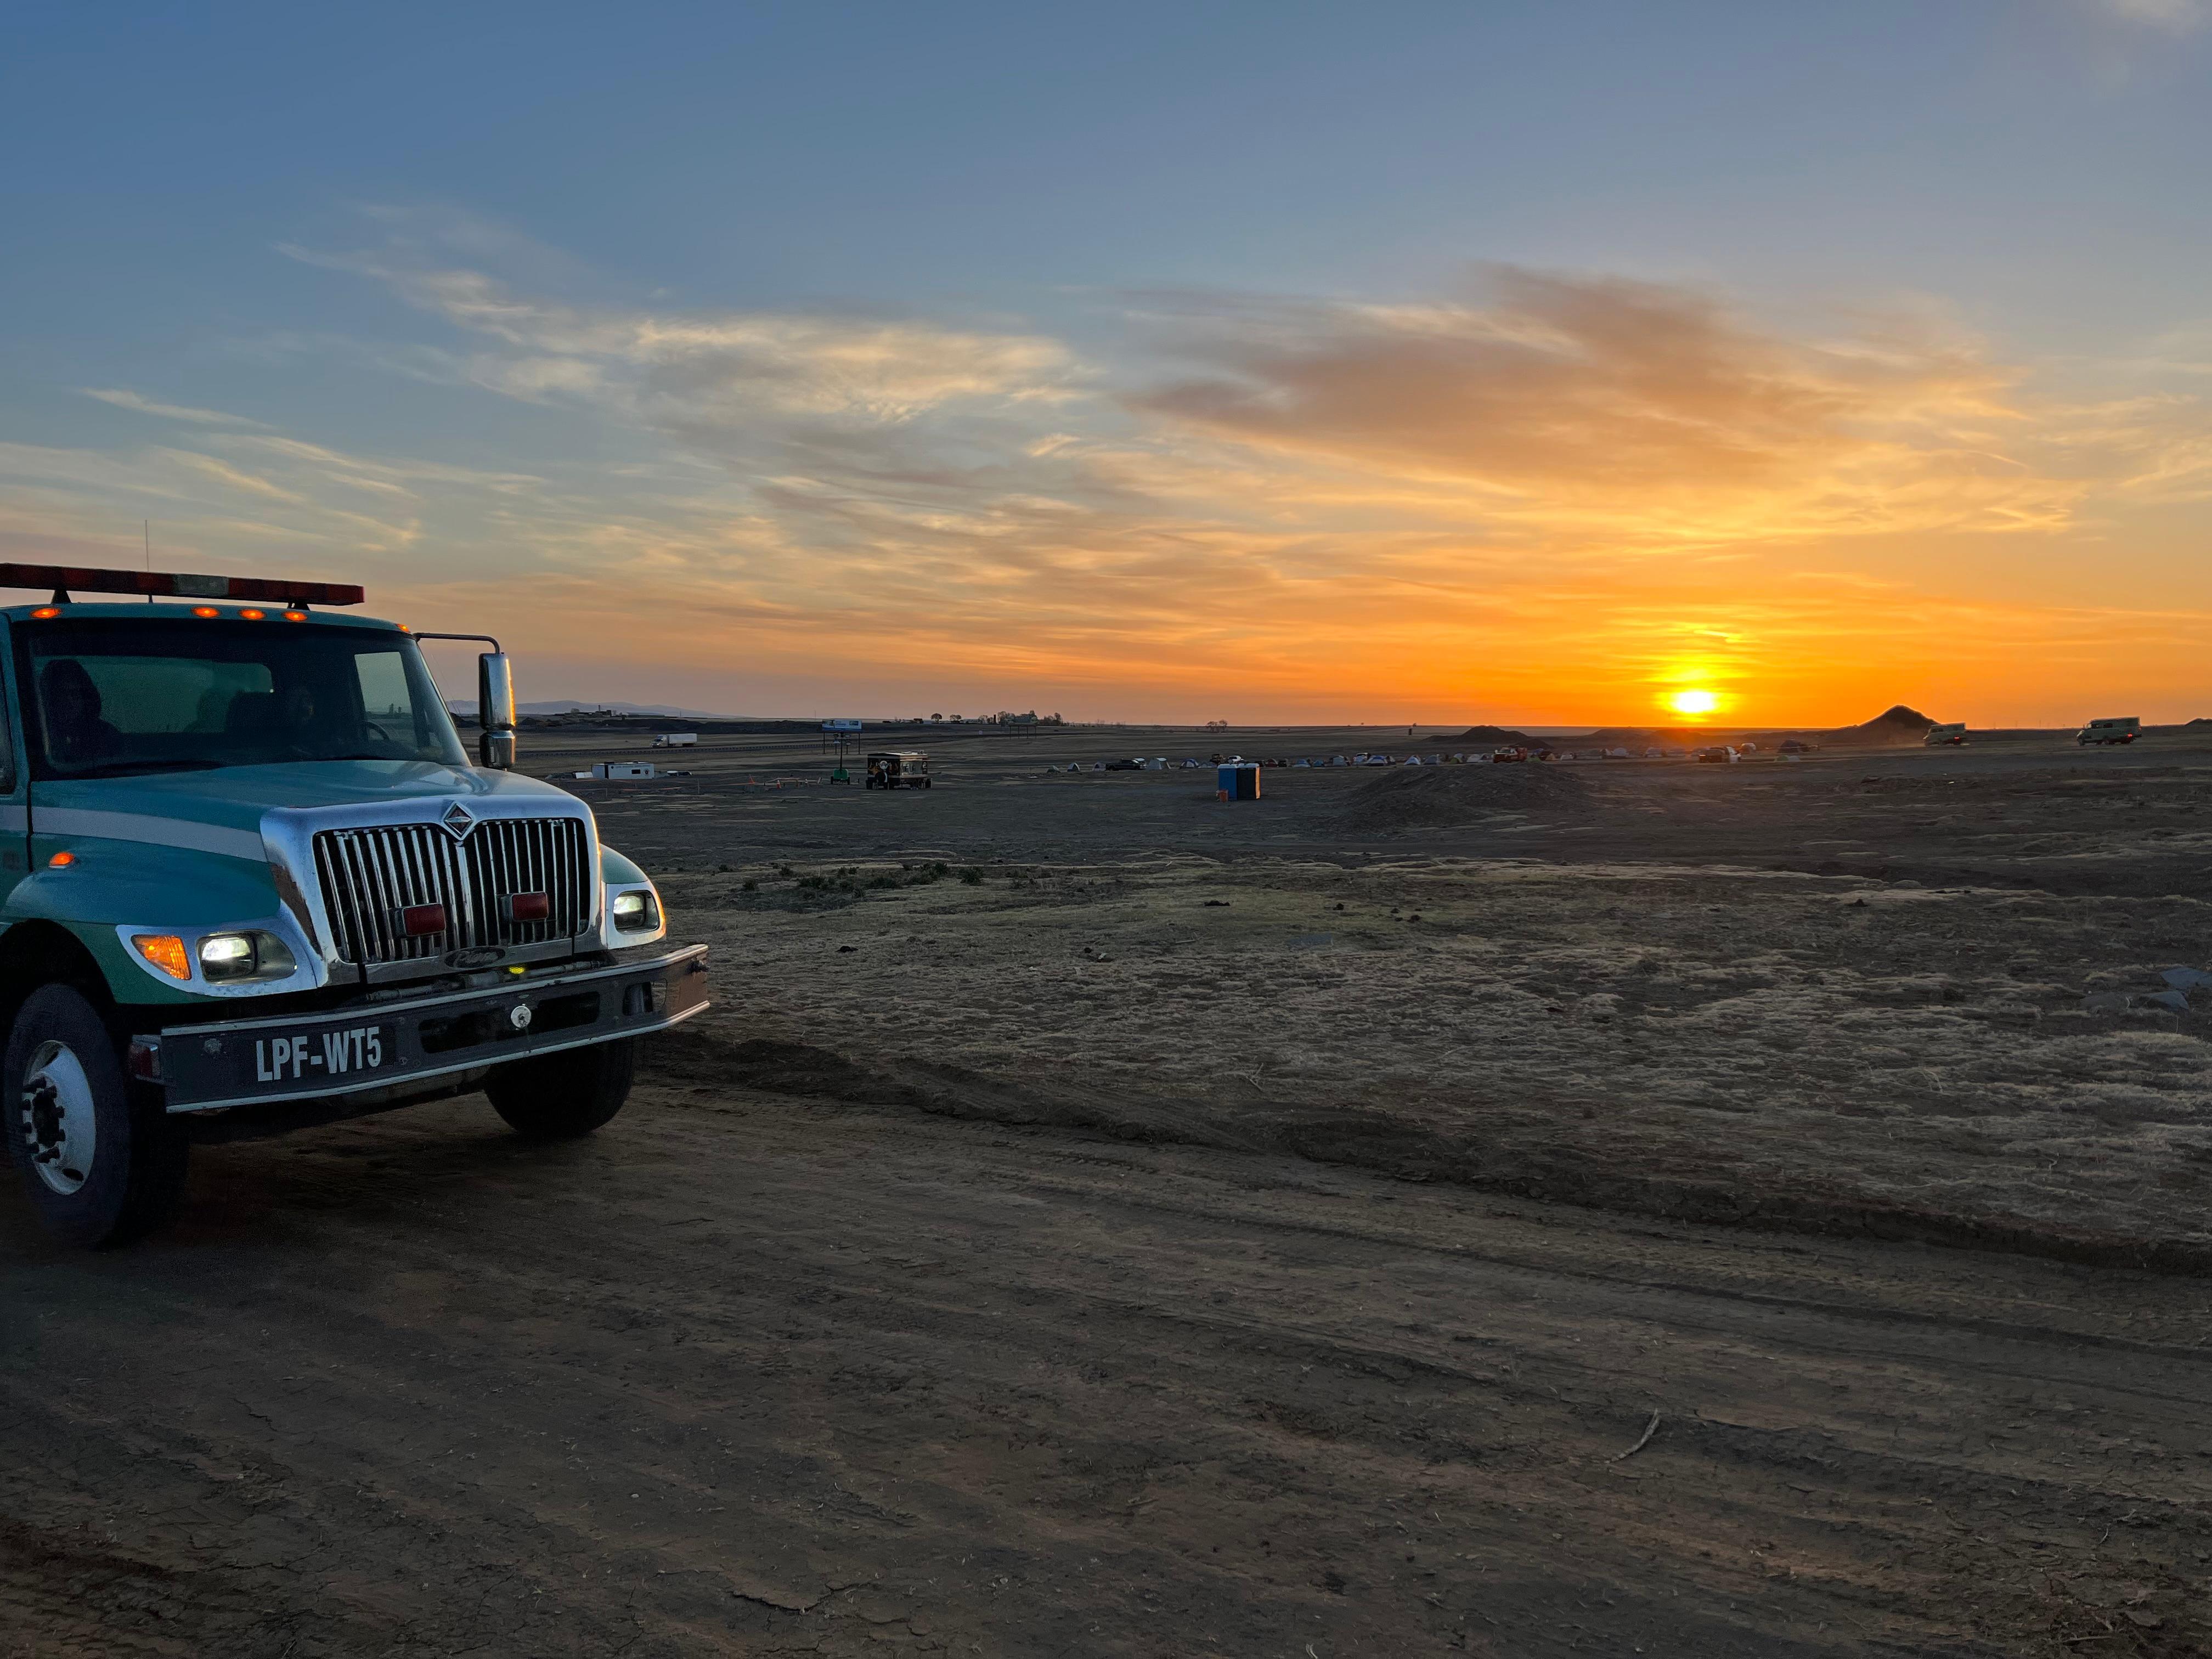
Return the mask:
<svg viewBox="0 0 2212 1659">
<path fill-rule="evenodd" d="M 261 814 L 272 807 L 396 805 L 456 796 L 575 807 L 575 796 L 566 790 L 513 772 L 478 772 L 436 761 L 294 761 L 155 772 L 142 779 L 42 781 L 31 785 L 31 818 L 35 825 L 40 810 L 131 812 L 261 834 Z"/>
</svg>

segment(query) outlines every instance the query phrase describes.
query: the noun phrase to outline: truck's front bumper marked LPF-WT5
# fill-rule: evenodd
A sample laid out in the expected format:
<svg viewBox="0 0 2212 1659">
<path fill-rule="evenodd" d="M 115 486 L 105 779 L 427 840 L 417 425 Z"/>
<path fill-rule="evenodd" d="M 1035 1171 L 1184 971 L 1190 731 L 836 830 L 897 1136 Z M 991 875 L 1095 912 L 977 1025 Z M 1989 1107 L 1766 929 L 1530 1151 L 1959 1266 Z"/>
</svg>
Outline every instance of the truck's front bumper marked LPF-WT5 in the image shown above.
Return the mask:
<svg viewBox="0 0 2212 1659">
<path fill-rule="evenodd" d="M 706 945 L 688 945 L 484 991 L 170 1026 L 131 1046 L 170 1113 L 219 1113 L 434 1086 L 507 1060 L 666 1031 L 703 1006 Z"/>
</svg>

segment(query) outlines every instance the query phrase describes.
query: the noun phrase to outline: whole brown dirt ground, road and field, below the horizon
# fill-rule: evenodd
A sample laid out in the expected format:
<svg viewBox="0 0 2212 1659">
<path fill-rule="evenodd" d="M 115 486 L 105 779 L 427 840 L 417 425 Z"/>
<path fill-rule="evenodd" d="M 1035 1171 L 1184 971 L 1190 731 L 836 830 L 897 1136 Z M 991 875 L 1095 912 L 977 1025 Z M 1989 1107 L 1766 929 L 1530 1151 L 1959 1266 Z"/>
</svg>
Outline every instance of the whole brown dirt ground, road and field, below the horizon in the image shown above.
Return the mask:
<svg viewBox="0 0 2212 1659">
<path fill-rule="evenodd" d="M 0 1212 L 0 1657 L 2212 1652 L 2212 743 L 1044 774 L 1387 741 L 575 785 L 604 1135 Z"/>
</svg>

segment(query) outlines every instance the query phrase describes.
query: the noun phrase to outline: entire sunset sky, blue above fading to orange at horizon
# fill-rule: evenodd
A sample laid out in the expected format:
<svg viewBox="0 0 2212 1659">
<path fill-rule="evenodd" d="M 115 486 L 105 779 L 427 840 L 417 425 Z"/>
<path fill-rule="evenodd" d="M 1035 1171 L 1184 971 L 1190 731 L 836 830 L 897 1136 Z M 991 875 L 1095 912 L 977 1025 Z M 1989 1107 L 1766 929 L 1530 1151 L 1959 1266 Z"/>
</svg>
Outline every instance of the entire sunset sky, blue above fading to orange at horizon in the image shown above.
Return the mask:
<svg viewBox="0 0 2212 1659">
<path fill-rule="evenodd" d="M 748 714 L 2212 714 L 2205 0 L 9 35 L 7 560 Z"/>
</svg>

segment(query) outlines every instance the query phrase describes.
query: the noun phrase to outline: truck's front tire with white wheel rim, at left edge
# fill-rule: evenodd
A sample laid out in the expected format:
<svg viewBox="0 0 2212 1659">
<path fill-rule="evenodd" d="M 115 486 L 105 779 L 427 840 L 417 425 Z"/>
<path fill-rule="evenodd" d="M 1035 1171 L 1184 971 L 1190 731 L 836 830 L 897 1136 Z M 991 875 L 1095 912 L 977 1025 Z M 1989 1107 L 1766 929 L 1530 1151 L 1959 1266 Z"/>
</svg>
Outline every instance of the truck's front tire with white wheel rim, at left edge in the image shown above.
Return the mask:
<svg viewBox="0 0 2212 1659">
<path fill-rule="evenodd" d="M 46 1232 L 97 1250 L 131 1243 L 177 1212 L 190 1141 L 161 1097 L 124 1075 L 115 1037 L 84 993 L 33 991 L 0 1064 L 9 1157 Z"/>
</svg>

